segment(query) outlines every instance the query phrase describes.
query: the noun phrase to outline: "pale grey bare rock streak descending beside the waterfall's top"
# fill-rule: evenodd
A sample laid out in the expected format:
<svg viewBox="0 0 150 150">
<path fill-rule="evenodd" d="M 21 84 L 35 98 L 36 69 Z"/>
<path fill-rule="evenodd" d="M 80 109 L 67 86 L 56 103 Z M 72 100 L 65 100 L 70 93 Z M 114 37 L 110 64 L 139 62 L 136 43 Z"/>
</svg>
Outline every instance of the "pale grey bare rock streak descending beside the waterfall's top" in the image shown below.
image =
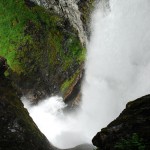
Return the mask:
<svg viewBox="0 0 150 150">
<path fill-rule="evenodd" d="M 81 20 L 81 12 L 77 0 L 32 0 L 37 4 L 53 10 L 69 20 L 70 24 L 78 31 L 80 41 L 86 42 L 86 34 Z M 86 7 L 86 6 L 85 6 Z"/>
</svg>

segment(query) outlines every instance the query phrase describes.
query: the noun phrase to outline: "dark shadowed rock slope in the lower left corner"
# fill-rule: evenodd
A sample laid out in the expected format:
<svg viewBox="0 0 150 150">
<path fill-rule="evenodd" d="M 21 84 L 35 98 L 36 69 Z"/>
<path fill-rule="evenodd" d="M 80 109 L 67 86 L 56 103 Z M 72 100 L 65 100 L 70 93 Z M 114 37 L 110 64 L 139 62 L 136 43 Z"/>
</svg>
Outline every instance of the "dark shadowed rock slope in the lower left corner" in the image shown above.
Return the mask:
<svg viewBox="0 0 150 150">
<path fill-rule="evenodd" d="M 55 150 L 39 131 L 17 97 L 0 57 L 0 150 Z"/>
</svg>

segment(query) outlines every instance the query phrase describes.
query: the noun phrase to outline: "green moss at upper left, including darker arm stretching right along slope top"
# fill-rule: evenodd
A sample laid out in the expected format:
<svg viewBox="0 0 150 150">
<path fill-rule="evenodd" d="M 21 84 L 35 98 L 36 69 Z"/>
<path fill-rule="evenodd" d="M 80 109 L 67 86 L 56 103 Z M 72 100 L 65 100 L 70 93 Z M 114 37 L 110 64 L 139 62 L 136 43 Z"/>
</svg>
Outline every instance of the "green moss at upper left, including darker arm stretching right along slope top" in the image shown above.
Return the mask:
<svg viewBox="0 0 150 150">
<path fill-rule="evenodd" d="M 38 31 L 42 21 L 47 27 L 53 28 L 59 18 L 50 17 L 49 13 L 39 6 L 29 9 L 24 0 L 2 0 L 0 2 L 0 55 L 7 58 L 9 66 L 17 73 L 23 71 L 23 64 L 17 59 L 20 58 L 19 46 L 29 39 L 31 43 L 35 44 L 32 36 L 24 33 L 30 20 L 36 25 L 35 30 Z"/>
</svg>

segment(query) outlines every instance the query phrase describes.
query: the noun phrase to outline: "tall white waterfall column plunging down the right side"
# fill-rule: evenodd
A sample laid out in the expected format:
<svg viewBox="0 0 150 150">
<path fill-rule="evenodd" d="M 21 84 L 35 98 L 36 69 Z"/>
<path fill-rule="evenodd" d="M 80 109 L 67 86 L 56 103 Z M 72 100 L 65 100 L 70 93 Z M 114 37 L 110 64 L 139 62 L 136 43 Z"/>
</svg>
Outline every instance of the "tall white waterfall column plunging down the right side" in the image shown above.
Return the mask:
<svg viewBox="0 0 150 150">
<path fill-rule="evenodd" d="M 150 1 L 102 2 L 92 16 L 82 92 L 92 134 L 115 119 L 127 101 L 150 93 Z"/>
</svg>

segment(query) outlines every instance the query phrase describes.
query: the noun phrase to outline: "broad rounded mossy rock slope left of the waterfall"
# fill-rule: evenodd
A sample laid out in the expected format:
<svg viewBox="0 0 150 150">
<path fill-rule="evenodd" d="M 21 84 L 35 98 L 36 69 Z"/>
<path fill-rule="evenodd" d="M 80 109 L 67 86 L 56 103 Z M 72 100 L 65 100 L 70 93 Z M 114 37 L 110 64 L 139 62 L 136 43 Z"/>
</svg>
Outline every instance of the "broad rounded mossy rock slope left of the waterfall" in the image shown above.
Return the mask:
<svg viewBox="0 0 150 150">
<path fill-rule="evenodd" d="M 69 19 L 29 0 L 2 0 L 0 14 L 0 55 L 18 91 L 34 102 L 70 95 L 82 77 L 85 48 Z"/>
</svg>

